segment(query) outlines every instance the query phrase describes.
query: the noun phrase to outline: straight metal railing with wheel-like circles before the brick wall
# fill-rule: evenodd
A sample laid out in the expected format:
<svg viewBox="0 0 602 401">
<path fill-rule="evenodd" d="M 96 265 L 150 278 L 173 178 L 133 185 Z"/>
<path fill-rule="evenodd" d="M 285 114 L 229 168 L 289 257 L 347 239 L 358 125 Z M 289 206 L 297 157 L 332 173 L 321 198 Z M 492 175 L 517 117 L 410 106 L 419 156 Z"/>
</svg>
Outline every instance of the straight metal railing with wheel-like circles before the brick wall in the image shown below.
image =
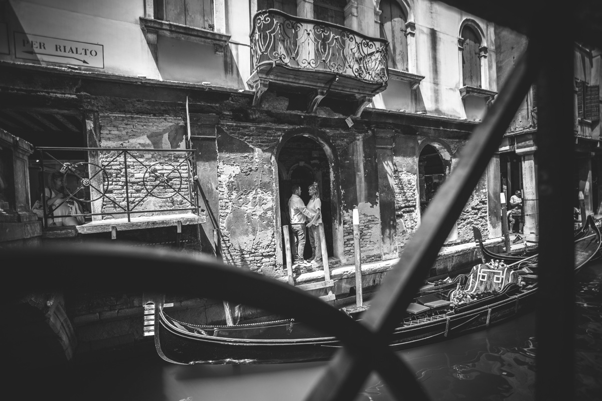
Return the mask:
<svg viewBox="0 0 602 401">
<path fill-rule="evenodd" d="M 53 205 L 43 198 L 44 225 L 73 216 L 85 222 L 132 215 L 198 213 L 194 150 L 40 147 L 42 176 L 63 175 L 64 198 Z M 87 155 L 87 162 L 80 161 Z M 44 183 L 48 186 L 48 182 Z M 42 191 L 42 195 L 44 194 Z M 79 204 L 76 214 L 59 214 L 63 204 Z M 73 212 L 74 209 L 72 209 Z"/>
</svg>

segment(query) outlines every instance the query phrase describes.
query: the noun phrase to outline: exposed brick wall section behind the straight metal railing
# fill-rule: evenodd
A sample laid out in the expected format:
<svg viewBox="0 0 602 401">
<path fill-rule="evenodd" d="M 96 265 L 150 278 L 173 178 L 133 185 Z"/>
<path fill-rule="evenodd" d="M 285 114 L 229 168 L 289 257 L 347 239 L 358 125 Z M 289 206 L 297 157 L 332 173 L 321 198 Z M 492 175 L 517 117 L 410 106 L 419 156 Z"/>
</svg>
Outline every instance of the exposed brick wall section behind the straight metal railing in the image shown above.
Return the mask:
<svg viewBox="0 0 602 401">
<path fill-rule="evenodd" d="M 184 152 L 158 152 L 154 149 L 183 148 L 181 117 L 104 114 L 100 118 L 102 147 L 146 149 L 140 152 L 98 152 L 104 166 L 107 197 L 102 212 L 129 210 L 183 209 L 192 207 L 189 192 L 191 171 Z M 128 174 L 125 174 L 127 162 Z M 95 191 L 93 191 L 95 192 Z M 98 194 L 93 194 L 98 197 Z M 178 212 L 137 213 L 135 216 L 169 215 Z M 124 214 L 103 218 L 123 218 Z"/>
</svg>

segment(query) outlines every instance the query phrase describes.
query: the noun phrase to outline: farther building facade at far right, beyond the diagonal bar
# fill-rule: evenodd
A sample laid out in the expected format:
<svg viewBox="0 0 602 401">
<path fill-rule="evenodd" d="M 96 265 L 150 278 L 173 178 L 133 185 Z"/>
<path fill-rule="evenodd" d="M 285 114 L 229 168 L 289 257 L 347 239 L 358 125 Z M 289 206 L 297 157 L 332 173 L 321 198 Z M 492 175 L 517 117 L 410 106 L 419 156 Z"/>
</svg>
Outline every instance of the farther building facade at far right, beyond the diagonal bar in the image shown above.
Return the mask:
<svg viewBox="0 0 602 401">
<path fill-rule="evenodd" d="M 498 85 L 503 85 L 514 63 L 527 49 L 526 36 L 503 26 L 495 26 L 497 49 Z M 576 43 L 574 47 L 574 129 L 559 135 L 573 135 L 574 152 L 577 154 L 573 172 L 574 186 L 571 191 L 574 207 L 580 209 L 579 193 L 583 195 L 585 213 L 600 215 L 602 212 L 602 186 L 600 177 L 600 115 L 602 114 L 602 51 Z M 538 191 L 537 191 L 537 86 L 533 85 L 500 144 L 499 152 L 492 159 L 499 164 L 500 180 L 506 199 L 515 190 L 523 193 L 523 233 L 527 240 L 537 242 Z"/>
</svg>

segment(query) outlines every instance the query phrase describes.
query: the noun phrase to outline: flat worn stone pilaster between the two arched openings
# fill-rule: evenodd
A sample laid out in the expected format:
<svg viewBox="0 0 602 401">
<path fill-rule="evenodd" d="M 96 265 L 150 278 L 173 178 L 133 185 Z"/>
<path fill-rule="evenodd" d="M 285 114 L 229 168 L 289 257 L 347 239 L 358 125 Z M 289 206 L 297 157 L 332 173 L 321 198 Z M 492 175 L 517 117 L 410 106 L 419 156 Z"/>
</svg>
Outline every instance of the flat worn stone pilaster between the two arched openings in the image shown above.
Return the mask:
<svg viewBox="0 0 602 401">
<path fill-rule="evenodd" d="M 398 256 L 395 179 L 393 177 L 393 135 L 393 131 L 385 130 L 378 130 L 375 134 L 383 260 L 394 259 Z"/>
</svg>

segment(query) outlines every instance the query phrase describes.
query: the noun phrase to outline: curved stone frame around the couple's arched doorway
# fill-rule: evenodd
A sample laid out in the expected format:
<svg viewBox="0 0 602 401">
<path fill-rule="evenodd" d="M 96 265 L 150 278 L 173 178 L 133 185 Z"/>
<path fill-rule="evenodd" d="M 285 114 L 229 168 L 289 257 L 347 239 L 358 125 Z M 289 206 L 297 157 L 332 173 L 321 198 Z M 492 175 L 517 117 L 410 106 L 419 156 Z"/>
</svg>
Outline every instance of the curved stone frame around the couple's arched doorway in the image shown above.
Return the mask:
<svg viewBox="0 0 602 401">
<path fill-rule="evenodd" d="M 274 182 L 274 217 L 275 217 L 275 240 L 276 240 L 276 266 L 281 268 L 282 263 L 282 219 L 280 217 L 280 182 L 279 178 L 288 175 L 288 171 L 280 171 L 280 152 L 287 142 L 296 137 L 305 136 L 317 142 L 328 159 L 330 173 L 330 214 L 332 216 L 332 255 L 337 259 L 344 259 L 343 247 L 343 198 L 341 197 L 341 177 L 339 172 L 338 152 L 330 139 L 321 130 L 308 127 L 297 128 L 285 132 L 280 137 L 272 154 L 272 177 Z"/>
</svg>

